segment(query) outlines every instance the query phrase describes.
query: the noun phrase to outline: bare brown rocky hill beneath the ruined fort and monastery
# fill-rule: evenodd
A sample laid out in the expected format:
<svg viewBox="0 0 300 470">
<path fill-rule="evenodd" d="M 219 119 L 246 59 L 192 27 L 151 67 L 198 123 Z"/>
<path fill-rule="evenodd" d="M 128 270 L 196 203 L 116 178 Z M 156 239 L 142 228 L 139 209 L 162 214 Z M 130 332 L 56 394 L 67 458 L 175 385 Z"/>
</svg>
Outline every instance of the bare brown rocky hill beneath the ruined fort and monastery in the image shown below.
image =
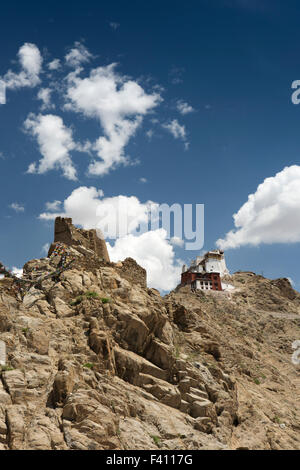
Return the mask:
<svg viewBox="0 0 300 470">
<path fill-rule="evenodd" d="M 0 280 L 0 449 L 300 449 L 288 280 L 236 273 L 231 293 L 161 297 L 80 237 L 25 265 L 45 273 L 25 295 Z"/>
</svg>

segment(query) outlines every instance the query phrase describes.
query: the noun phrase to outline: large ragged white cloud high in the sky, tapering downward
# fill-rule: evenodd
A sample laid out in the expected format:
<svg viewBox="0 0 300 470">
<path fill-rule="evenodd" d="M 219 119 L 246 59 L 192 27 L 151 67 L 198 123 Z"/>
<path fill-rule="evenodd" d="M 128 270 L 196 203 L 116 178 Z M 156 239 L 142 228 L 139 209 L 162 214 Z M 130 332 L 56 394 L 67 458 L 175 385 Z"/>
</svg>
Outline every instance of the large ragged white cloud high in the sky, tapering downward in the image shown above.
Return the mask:
<svg viewBox="0 0 300 470">
<path fill-rule="evenodd" d="M 115 72 L 116 64 L 93 69 L 90 76 L 69 75 L 68 109 L 100 121 L 104 131 L 93 145 L 99 160 L 89 165 L 91 175 L 103 175 L 127 164 L 124 148 L 142 123 L 142 117 L 161 101 L 158 93 L 147 94 L 135 81 Z"/>
</svg>

